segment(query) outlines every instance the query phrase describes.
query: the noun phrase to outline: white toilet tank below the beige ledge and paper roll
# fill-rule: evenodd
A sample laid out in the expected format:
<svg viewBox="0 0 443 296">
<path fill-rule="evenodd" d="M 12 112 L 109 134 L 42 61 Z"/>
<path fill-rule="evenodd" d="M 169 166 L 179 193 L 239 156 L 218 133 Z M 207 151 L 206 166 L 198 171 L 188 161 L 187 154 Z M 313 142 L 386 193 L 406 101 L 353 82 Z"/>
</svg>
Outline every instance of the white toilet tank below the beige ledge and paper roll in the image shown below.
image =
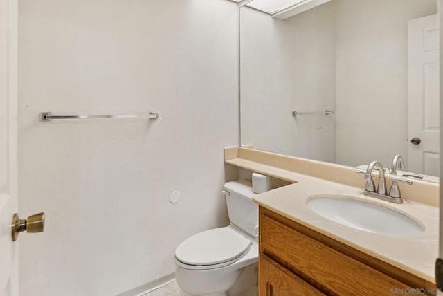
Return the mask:
<svg viewBox="0 0 443 296">
<path fill-rule="evenodd" d="M 252 201 L 252 183 L 237 180 L 224 185 L 230 223 L 255 237 L 258 225 L 258 205 Z"/>
</svg>

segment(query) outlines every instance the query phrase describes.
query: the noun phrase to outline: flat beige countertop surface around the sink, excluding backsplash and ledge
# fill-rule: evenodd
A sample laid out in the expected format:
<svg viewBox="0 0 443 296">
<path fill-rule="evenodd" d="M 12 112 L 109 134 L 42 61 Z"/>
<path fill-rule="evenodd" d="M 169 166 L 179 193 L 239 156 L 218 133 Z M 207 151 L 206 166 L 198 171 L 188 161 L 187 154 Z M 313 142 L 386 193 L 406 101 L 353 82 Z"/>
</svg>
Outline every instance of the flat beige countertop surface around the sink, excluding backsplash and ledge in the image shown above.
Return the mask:
<svg viewBox="0 0 443 296">
<path fill-rule="evenodd" d="M 365 196 L 362 188 L 310 176 L 300 177 L 298 183 L 257 194 L 253 197 L 253 201 L 327 237 L 435 283 L 435 259 L 438 257 L 438 207 L 408 200 L 397 205 Z M 307 207 L 307 198 L 318 195 L 347 196 L 382 205 L 419 221 L 425 230 L 419 234 L 392 236 L 350 228 L 323 218 Z"/>
</svg>

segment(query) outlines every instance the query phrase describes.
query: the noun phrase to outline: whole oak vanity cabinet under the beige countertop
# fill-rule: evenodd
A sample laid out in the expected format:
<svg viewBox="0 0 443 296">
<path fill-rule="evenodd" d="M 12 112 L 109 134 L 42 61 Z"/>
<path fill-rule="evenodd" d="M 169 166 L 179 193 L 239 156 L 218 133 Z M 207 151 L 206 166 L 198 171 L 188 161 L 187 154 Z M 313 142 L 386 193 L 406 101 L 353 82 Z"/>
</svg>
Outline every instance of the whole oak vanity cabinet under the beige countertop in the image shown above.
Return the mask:
<svg viewBox="0 0 443 296">
<path fill-rule="evenodd" d="M 260 206 L 260 296 L 435 291 L 431 282 Z"/>
</svg>

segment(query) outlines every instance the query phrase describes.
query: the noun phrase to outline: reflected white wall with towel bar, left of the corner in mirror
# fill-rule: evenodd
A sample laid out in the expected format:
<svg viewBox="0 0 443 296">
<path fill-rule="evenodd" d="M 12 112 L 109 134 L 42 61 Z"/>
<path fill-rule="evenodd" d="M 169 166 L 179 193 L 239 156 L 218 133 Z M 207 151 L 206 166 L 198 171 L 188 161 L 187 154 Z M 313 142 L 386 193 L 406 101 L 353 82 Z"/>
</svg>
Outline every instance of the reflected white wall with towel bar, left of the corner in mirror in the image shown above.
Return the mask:
<svg viewBox="0 0 443 296">
<path fill-rule="evenodd" d="M 242 145 L 335 160 L 334 6 L 284 21 L 244 7 L 241 15 Z"/>
</svg>

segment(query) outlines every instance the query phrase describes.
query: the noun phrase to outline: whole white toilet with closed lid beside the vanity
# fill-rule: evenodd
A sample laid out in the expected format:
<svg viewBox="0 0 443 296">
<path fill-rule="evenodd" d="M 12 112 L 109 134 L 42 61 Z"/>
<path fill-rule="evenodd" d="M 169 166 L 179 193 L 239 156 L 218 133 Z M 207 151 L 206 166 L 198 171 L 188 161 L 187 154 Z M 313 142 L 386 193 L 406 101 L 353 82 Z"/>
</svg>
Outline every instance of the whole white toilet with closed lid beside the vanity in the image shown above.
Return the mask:
<svg viewBox="0 0 443 296">
<path fill-rule="evenodd" d="M 226 183 L 230 225 L 199 232 L 175 250 L 177 284 L 185 293 L 257 295 L 258 206 L 251 186 L 246 180 Z"/>
</svg>

